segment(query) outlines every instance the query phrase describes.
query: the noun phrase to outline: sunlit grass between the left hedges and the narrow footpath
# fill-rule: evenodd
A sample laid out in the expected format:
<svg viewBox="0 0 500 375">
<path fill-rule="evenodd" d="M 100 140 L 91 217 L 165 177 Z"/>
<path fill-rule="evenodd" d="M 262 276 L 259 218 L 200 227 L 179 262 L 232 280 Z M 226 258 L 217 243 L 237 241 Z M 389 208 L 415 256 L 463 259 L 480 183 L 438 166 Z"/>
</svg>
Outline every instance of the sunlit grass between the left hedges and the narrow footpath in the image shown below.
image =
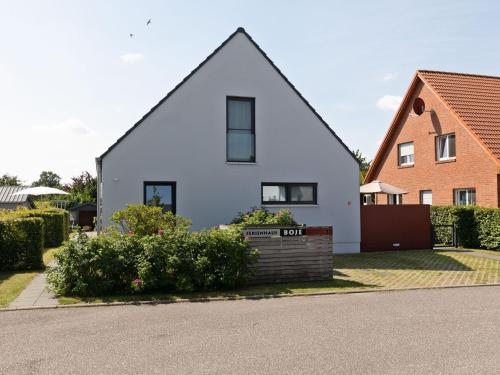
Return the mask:
<svg viewBox="0 0 500 375">
<path fill-rule="evenodd" d="M 45 249 L 43 254 L 43 263 L 45 265 L 54 259 L 54 254 L 61 247 Z M 0 272 L 0 307 L 6 307 L 26 288 L 26 286 L 38 275 L 39 271 L 5 271 Z"/>
</svg>

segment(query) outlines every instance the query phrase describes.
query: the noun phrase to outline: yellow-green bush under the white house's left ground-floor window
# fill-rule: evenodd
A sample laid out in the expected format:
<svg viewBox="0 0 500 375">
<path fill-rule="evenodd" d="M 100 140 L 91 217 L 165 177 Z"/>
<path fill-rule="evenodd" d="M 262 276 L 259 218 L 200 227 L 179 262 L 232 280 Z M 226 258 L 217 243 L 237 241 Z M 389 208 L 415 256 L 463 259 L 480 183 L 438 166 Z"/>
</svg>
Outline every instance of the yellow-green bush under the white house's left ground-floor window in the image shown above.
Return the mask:
<svg viewBox="0 0 500 375">
<path fill-rule="evenodd" d="M 163 212 L 161 207 L 130 204 L 123 210 L 116 211 L 111 220 L 121 232 L 134 233 L 137 236 L 158 234 L 160 231 L 185 230 L 189 220 L 176 216 L 172 212 Z"/>
</svg>

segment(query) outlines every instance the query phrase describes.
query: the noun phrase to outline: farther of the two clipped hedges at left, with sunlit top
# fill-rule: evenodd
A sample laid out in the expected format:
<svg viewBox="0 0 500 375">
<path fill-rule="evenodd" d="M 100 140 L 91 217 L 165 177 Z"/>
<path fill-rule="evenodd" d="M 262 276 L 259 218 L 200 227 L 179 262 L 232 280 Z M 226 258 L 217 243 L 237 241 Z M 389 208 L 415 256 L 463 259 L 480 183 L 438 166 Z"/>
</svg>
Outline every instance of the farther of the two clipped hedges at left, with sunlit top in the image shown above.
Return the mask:
<svg viewBox="0 0 500 375">
<path fill-rule="evenodd" d="M 69 213 L 57 208 L 3 211 L 0 219 L 40 218 L 44 223 L 44 247 L 60 246 L 69 239 Z"/>
</svg>

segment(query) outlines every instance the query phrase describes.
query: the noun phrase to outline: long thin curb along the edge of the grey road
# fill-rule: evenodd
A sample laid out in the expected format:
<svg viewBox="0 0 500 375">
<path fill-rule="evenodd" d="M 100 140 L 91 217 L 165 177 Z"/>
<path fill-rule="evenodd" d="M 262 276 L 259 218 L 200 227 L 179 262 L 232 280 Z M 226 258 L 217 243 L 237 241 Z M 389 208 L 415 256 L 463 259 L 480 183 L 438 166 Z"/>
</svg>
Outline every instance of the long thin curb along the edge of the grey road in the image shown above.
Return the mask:
<svg viewBox="0 0 500 375">
<path fill-rule="evenodd" d="M 75 303 L 69 305 L 51 305 L 51 306 L 26 306 L 26 307 L 6 307 L 0 308 L 0 313 L 7 311 L 22 311 L 22 310 L 53 310 L 53 309 L 76 309 L 83 307 L 112 307 L 112 306 L 142 306 L 142 305 L 168 305 L 174 303 L 200 303 L 200 302 L 217 302 L 217 301 L 242 301 L 242 300 L 261 300 L 273 298 L 293 298 L 293 297 L 310 297 L 310 296 L 328 296 L 328 295 L 346 295 L 346 294 L 363 294 L 363 293 L 392 293 L 405 292 L 411 290 L 435 290 L 435 289 L 458 289 L 458 288 L 475 288 L 485 286 L 500 286 L 500 283 L 495 284 L 473 284 L 473 285 L 447 285 L 433 287 L 410 287 L 410 288 L 391 288 L 391 289 L 365 289 L 337 292 L 310 292 L 310 293 L 295 293 L 295 294 L 256 294 L 252 296 L 234 296 L 234 297 L 207 297 L 207 298 L 178 298 L 175 300 L 154 300 L 154 301 L 124 301 L 124 302 L 100 302 L 100 303 Z"/>
</svg>

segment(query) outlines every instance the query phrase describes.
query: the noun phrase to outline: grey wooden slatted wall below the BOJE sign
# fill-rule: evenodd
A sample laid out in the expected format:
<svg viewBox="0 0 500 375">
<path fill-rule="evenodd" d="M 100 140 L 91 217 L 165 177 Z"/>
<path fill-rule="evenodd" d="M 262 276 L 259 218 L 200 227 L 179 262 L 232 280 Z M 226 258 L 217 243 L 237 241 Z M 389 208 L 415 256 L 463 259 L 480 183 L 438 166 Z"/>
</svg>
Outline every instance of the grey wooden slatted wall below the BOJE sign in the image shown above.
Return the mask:
<svg viewBox="0 0 500 375">
<path fill-rule="evenodd" d="M 306 228 L 301 237 L 249 238 L 260 252 L 252 284 L 331 280 L 332 228 Z"/>
</svg>

